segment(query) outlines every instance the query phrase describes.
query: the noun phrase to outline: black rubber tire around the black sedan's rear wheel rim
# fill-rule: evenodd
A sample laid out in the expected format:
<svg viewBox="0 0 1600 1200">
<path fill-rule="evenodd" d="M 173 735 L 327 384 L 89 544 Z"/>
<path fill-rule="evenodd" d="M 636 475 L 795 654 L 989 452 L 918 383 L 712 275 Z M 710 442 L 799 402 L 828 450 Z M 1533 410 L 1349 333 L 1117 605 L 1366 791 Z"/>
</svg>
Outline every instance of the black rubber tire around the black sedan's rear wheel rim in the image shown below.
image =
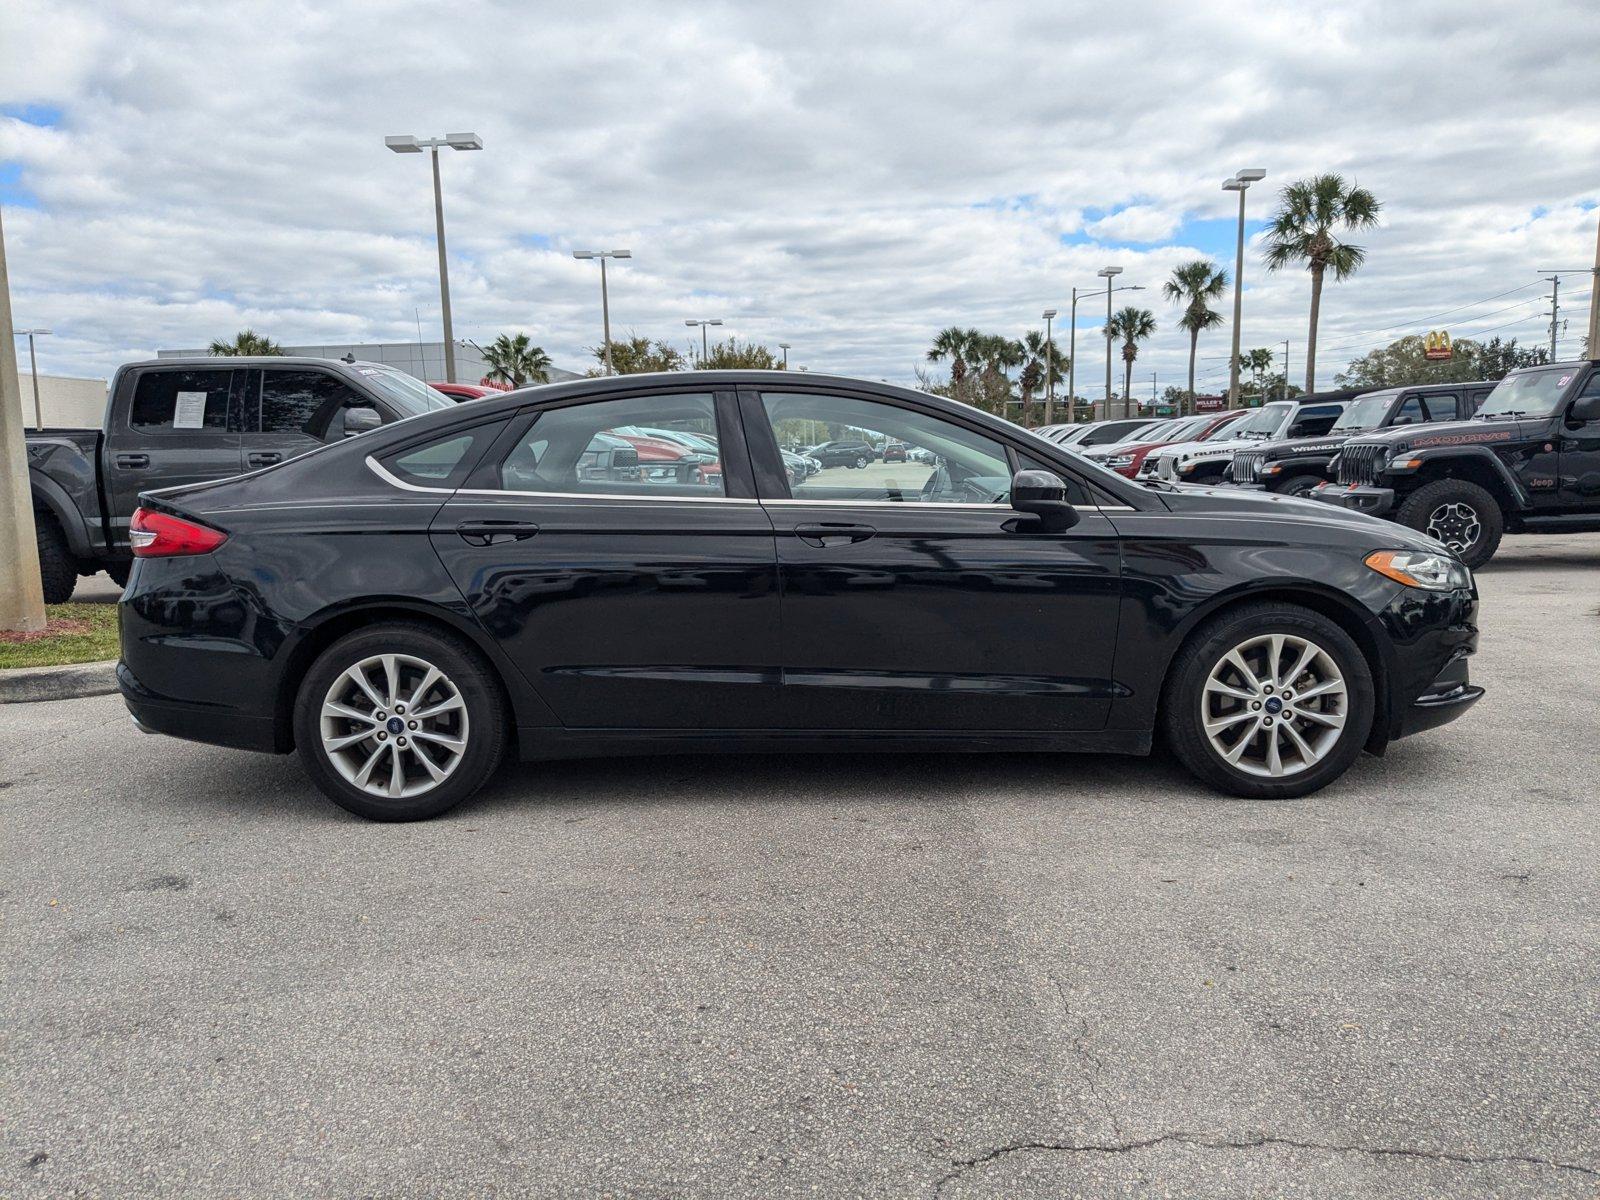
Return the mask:
<svg viewBox="0 0 1600 1200">
<path fill-rule="evenodd" d="M 461 760 L 442 782 L 419 795 L 389 798 L 357 787 L 339 773 L 322 742 L 328 690 L 347 667 L 376 654 L 414 656 L 438 667 L 466 704 L 467 746 Z M 424 821 L 467 800 L 494 774 L 506 747 L 506 706 L 493 669 L 470 645 L 432 626 L 397 621 L 349 634 L 317 658 L 294 698 L 294 744 L 307 774 L 341 808 L 370 821 Z M 394 752 L 390 747 L 389 754 Z"/>
</svg>

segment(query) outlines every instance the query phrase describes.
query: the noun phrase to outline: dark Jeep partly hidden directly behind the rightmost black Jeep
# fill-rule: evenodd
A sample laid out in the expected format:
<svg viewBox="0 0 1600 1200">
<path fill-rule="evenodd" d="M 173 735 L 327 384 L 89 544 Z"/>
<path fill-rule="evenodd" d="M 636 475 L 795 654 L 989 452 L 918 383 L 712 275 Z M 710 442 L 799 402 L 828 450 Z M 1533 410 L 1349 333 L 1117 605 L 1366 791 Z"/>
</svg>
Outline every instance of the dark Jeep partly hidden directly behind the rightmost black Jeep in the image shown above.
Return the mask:
<svg viewBox="0 0 1600 1200">
<path fill-rule="evenodd" d="M 1322 437 L 1285 438 L 1234 451 L 1226 482 L 1242 488 L 1304 496 L 1333 478 L 1339 446 L 1360 434 L 1434 421 L 1464 421 L 1494 390 L 1491 382 L 1416 384 L 1363 392 Z"/>
</svg>

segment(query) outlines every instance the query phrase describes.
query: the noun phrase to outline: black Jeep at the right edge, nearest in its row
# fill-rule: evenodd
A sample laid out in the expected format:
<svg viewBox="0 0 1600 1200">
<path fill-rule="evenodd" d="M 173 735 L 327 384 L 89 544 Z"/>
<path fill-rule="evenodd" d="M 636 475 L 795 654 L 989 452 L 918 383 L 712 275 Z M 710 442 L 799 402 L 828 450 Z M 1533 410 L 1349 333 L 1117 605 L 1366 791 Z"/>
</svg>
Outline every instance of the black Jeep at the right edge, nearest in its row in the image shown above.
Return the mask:
<svg viewBox="0 0 1600 1200">
<path fill-rule="evenodd" d="M 1502 533 L 1600 530 L 1600 358 L 1512 371 L 1470 421 L 1354 437 L 1334 472 L 1312 499 L 1410 525 L 1472 568 Z"/>
</svg>

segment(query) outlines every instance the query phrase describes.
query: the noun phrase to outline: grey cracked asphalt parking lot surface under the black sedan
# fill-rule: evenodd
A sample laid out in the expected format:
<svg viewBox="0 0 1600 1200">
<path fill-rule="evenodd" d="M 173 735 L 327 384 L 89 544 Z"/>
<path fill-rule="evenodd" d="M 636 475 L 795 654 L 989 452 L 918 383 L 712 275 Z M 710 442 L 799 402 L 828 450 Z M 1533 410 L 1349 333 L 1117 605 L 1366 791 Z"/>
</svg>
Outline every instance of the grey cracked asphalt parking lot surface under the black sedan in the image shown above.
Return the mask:
<svg viewBox="0 0 1600 1200">
<path fill-rule="evenodd" d="M 294 760 L 0 709 L 0 1192 L 1600 1192 L 1600 534 L 1469 717 L 1301 802 L 1165 760 Z"/>
</svg>

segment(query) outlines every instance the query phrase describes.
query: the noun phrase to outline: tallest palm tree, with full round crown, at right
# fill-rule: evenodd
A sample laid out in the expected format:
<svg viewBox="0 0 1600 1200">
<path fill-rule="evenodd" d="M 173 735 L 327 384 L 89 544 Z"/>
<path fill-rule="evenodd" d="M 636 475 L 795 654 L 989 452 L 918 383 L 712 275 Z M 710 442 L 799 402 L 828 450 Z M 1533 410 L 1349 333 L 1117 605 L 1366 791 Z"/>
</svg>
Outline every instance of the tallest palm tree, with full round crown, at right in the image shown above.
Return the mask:
<svg viewBox="0 0 1600 1200">
<path fill-rule="evenodd" d="M 1314 174 L 1278 194 L 1278 211 L 1267 227 L 1267 267 L 1291 262 L 1310 269 L 1310 334 L 1306 339 L 1306 392 L 1317 390 L 1317 317 L 1322 314 L 1322 277 L 1331 269 L 1334 283 L 1349 278 L 1366 251 L 1334 237 L 1341 229 L 1373 229 L 1382 205 L 1371 192 L 1347 184 L 1342 174 Z"/>
</svg>

